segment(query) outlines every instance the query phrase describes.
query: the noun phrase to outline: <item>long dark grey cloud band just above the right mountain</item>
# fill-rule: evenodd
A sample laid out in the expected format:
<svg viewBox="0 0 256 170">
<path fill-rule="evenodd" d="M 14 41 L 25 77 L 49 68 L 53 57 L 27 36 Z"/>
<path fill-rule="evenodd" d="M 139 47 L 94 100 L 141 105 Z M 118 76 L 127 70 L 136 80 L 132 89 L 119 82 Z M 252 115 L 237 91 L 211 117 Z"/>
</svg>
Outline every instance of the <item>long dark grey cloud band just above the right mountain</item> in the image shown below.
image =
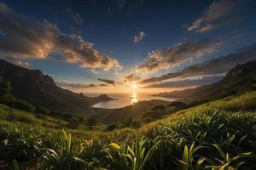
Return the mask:
<svg viewBox="0 0 256 170">
<path fill-rule="evenodd" d="M 211 59 L 199 64 L 189 65 L 182 71 L 171 72 L 160 77 L 151 77 L 140 83 L 161 82 L 172 78 L 202 77 L 225 74 L 238 64 L 256 59 L 256 44 L 248 48 L 241 48 L 234 54 L 228 54 L 218 59 Z"/>
</svg>

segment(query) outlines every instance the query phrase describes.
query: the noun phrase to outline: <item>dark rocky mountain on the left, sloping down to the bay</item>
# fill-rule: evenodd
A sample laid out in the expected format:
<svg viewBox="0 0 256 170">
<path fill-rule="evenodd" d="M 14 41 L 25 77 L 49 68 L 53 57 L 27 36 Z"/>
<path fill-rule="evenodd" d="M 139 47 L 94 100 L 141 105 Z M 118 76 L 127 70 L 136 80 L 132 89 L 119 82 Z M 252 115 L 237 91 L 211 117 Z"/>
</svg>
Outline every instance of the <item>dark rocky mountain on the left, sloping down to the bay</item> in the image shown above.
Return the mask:
<svg viewBox="0 0 256 170">
<path fill-rule="evenodd" d="M 106 94 L 89 98 L 56 86 L 54 80 L 42 71 L 29 70 L 0 59 L 0 77 L 11 82 L 12 94 L 32 105 L 44 106 L 51 111 L 79 111 L 101 101 L 111 100 Z"/>
</svg>

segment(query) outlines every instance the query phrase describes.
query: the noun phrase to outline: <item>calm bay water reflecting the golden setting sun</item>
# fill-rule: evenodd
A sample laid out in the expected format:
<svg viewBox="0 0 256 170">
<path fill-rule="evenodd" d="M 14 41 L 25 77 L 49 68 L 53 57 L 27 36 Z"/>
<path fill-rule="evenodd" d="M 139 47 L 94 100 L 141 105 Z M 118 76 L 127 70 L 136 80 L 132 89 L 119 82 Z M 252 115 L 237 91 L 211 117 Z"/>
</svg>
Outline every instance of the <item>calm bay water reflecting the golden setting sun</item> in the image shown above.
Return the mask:
<svg viewBox="0 0 256 170">
<path fill-rule="evenodd" d="M 102 94 L 108 94 L 108 93 L 102 93 Z M 90 97 L 95 97 L 100 94 L 84 93 L 84 95 L 90 96 Z M 155 96 L 150 96 L 150 95 L 152 95 L 152 94 L 149 94 L 149 93 L 113 94 L 113 93 L 111 93 L 111 94 L 108 94 L 108 96 L 112 99 L 117 99 L 117 100 L 99 102 L 96 105 L 93 105 L 92 107 L 115 109 L 115 108 L 124 107 L 126 105 L 132 105 L 138 101 L 143 101 L 143 100 L 151 100 L 151 99 L 161 99 L 161 100 L 165 100 L 165 101 L 176 100 L 173 98 L 162 98 L 162 97 L 155 97 Z"/>
</svg>

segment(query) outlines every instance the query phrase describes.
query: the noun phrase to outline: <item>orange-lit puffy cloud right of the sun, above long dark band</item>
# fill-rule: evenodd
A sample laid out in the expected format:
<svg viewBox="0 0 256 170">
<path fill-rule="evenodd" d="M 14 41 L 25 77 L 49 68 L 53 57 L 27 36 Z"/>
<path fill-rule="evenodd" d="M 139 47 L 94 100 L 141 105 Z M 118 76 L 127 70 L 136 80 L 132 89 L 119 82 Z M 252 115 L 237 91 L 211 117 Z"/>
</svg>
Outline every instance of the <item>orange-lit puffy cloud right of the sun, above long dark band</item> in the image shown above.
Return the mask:
<svg viewBox="0 0 256 170">
<path fill-rule="evenodd" d="M 214 54 L 222 48 L 225 39 L 190 40 L 175 44 L 171 48 L 155 50 L 149 53 L 148 59 L 137 66 L 137 71 L 158 71 L 181 65 L 191 59 L 200 58 L 206 54 Z"/>
</svg>

